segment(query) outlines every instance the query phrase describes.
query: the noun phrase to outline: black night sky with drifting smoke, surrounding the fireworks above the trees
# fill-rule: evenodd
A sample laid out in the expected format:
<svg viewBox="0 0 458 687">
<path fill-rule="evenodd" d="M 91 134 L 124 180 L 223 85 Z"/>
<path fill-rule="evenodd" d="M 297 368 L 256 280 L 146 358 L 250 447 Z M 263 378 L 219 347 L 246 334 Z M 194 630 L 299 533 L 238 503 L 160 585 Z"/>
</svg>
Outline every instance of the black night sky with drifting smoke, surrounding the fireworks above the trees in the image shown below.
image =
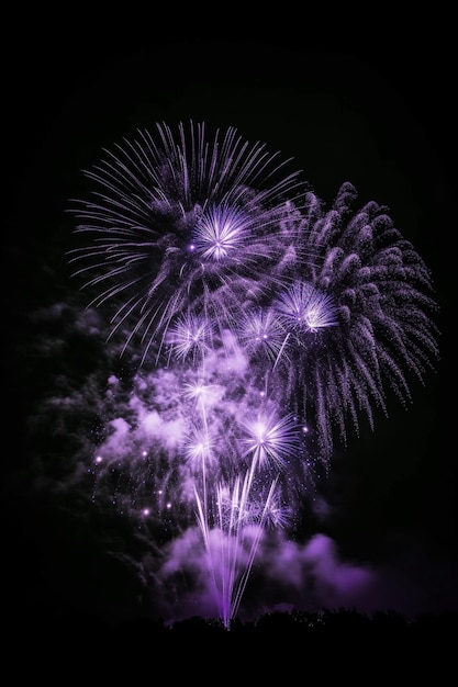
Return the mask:
<svg viewBox="0 0 458 687">
<path fill-rule="evenodd" d="M 302 584 L 273 572 L 271 551 L 242 610 L 458 610 L 451 49 L 444 41 L 433 55 L 422 32 L 406 49 L 401 27 L 390 33 L 389 24 L 357 47 L 349 41 L 353 48 L 201 35 L 121 47 L 96 30 L 18 45 L 7 83 L 2 270 L 4 593 L 13 616 L 208 610 L 179 571 L 171 596 L 155 598 L 145 533 L 94 506 L 86 489 L 81 444 L 102 431 L 88 390 L 96 406 L 98 381 L 112 372 L 110 313 L 85 315 L 88 299 L 66 257 L 75 243 L 69 199 L 87 191 L 81 169 L 136 128 L 189 120 L 234 126 L 294 158 L 326 202 L 350 181 L 361 204 L 387 205 L 431 268 L 440 307 L 437 370 L 424 386 L 409 378 L 407 409 L 392 399 L 373 433 L 362 424 L 336 452 L 313 513 L 305 508 L 290 542 Z M 433 22 L 428 31 L 440 30 Z M 118 364 L 129 370 L 129 360 Z"/>
</svg>

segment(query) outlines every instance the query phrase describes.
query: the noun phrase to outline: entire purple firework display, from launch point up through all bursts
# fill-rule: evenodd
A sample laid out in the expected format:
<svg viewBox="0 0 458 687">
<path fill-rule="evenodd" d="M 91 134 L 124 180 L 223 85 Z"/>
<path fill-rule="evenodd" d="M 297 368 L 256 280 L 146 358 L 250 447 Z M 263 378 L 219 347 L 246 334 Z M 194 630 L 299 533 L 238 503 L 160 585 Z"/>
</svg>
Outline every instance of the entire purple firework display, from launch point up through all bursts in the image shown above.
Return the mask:
<svg viewBox="0 0 458 687">
<path fill-rule="evenodd" d="M 234 128 L 157 124 L 104 150 L 71 207 L 109 338 L 179 388 L 174 451 L 142 482 L 194 513 L 226 627 L 264 528 L 438 358 L 429 271 L 387 209 L 355 210 L 349 183 L 326 207 L 290 164 Z"/>
</svg>

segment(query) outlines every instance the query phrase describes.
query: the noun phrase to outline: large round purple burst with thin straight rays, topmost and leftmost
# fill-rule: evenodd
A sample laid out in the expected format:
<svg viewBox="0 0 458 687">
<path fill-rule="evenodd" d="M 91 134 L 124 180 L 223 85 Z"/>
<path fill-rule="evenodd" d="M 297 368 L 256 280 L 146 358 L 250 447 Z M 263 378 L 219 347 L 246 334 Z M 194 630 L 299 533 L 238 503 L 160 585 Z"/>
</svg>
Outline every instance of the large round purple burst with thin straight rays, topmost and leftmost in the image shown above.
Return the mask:
<svg viewBox="0 0 458 687">
<path fill-rule="evenodd" d="M 283 176 L 289 160 L 233 128 L 208 139 L 203 124 L 158 124 L 156 134 L 105 150 L 86 172 L 93 200 L 71 210 L 93 239 L 71 261 L 97 288 L 94 304 L 116 304 L 111 334 L 127 328 L 124 348 L 138 336 L 144 360 L 190 303 L 221 330 L 234 325 L 259 271 L 277 262 L 286 199 L 303 187 L 298 171 Z"/>
</svg>

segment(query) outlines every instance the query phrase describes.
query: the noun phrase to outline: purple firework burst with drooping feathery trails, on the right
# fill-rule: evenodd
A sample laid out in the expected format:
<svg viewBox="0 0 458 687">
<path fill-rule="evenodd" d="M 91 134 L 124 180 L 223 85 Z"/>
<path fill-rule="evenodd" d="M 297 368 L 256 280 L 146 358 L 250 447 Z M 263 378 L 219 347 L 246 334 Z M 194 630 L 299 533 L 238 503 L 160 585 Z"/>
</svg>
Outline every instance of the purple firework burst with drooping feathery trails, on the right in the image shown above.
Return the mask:
<svg viewBox="0 0 458 687">
<path fill-rule="evenodd" d="M 303 216 L 289 228 L 290 252 L 306 250 L 313 261 L 290 261 L 294 281 L 275 303 L 291 333 L 276 368 L 281 393 L 316 425 L 325 461 L 336 430 L 345 444 L 347 424 L 358 431 L 361 415 L 373 428 L 373 408 L 387 413 L 387 392 L 405 405 L 407 375 L 423 383 L 438 359 L 427 266 L 386 207 L 369 202 L 355 212 L 356 198 L 344 183 L 326 210 L 306 193 Z"/>
</svg>

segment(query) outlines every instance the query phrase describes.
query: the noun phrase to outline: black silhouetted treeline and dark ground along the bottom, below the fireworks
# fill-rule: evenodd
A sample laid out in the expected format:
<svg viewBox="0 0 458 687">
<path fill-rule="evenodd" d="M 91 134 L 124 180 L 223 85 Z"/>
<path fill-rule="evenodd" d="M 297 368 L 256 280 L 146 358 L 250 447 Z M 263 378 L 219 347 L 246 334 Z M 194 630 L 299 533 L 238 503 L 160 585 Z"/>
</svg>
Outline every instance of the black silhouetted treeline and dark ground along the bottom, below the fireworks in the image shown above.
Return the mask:
<svg viewBox="0 0 458 687">
<path fill-rule="evenodd" d="M 172 623 L 137 618 L 119 623 L 86 615 L 22 618 L 3 644 L 16 682 L 51 685 L 80 679 L 118 685 L 134 676 L 170 683 L 239 683 L 348 678 L 371 685 L 395 680 L 448 684 L 457 662 L 458 615 L 355 610 L 268 612 L 256 621 L 192 617 Z M 7 646 L 7 649 L 5 649 Z M 18 658 L 20 656 L 20 658 Z M 217 677 L 216 677 L 217 675 Z M 68 682 L 69 679 L 72 682 Z M 393 682 L 394 680 L 394 682 Z"/>
</svg>

